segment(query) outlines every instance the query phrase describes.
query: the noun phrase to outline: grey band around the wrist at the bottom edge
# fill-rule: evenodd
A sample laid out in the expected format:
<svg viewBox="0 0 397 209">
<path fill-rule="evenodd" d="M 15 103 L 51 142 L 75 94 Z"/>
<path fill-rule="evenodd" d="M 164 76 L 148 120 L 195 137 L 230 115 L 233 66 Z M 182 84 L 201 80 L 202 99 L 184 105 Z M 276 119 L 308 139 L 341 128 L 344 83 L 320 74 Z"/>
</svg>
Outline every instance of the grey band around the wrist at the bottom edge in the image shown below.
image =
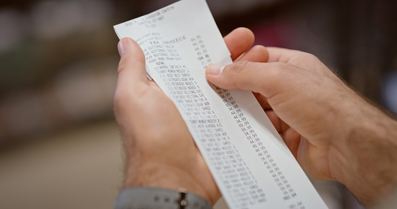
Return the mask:
<svg viewBox="0 0 397 209">
<path fill-rule="evenodd" d="M 115 209 L 210 209 L 211 203 L 193 193 L 161 188 L 133 187 L 121 190 Z"/>
</svg>

